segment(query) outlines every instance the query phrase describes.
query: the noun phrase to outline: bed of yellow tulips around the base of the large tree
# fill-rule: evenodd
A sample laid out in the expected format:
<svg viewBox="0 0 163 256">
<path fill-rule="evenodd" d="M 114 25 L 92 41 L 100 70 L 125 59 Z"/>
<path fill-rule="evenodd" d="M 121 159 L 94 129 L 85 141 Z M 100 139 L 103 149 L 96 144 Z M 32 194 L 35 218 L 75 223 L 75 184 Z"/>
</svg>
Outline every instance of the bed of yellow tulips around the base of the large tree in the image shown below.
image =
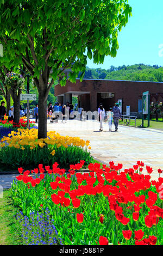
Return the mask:
<svg viewBox="0 0 163 256">
<path fill-rule="evenodd" d="M 48 132 L 46 139 L 37 139 L 36 129 L 18 129 L 3 137 L 0 144 L 0 161 L 13 168 L 26 166 L 33 168 L 42 163 L 52 166 L 58 162 L 60 166 L 78 163 L 80 159 L 86 163 L 92 161 L 87 151 L 89 141 L 78 137 L 60 136 L 59 133 Z M 90 147 L 89 147 L 90 149 Z"/>
</svg>

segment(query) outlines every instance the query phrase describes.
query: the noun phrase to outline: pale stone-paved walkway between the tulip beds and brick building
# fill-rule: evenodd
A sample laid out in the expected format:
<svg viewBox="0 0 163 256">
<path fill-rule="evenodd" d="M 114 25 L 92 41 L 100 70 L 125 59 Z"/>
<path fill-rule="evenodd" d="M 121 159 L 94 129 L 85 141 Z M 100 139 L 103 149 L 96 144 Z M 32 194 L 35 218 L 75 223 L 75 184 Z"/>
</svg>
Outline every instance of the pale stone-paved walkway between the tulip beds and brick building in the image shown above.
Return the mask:
<svg viewBox="0 0 163 256">
<path fill-rule="evenodd" d="M 124 168 L 131 168 L 137 160 L 153 167 L 152 179 L 158 179 L 158 168 L 163 169 L 163 131 L 139 129 L 119 125 L 115 132 L 108 130 L 108 123 L 103 124 L 103 132 L 99 132 L 99 123 L 95 120 L 68 120 L 67 123 L 49 123 L 48 131 L 56 131 L 60 135 L 89 139 L 92 156 L 106 164 L 114 161 L 123 163 Z M 143 172 L 146 174 L 146 171 Z M 163 175 L 161 175 L 163 177 Z M 0 185 L 9 188 L 16 175 L 0 175 Z"/>
</svg>

